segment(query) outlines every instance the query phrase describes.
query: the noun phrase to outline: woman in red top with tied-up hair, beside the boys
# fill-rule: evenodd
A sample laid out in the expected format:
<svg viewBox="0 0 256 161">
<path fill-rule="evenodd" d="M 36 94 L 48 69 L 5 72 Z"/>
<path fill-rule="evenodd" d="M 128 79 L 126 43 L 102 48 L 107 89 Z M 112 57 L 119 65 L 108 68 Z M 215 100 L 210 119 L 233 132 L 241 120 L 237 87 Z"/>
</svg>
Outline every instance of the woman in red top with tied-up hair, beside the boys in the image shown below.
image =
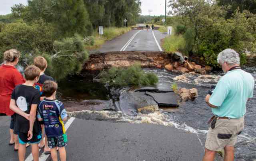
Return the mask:
<svg viewBox="0 0 256 161">
<path fill-rule="evenodd" d="M 15 86 L 25 82 L 20 72 L 15 68 L 20 59 L 20 52 L 11 49 L 4 52 L 4 61 L 6 64 L 0 66 L 0 113 L 4 113 L 8 116 L 12 116 L 10 124 L 10 143 L 9 145 L 14 146 L 16 151 L 19 146 L 18 132 L 14 131 L 14 112 L 10 110 L 10 100 L 12 90 Z"/>
</svg>

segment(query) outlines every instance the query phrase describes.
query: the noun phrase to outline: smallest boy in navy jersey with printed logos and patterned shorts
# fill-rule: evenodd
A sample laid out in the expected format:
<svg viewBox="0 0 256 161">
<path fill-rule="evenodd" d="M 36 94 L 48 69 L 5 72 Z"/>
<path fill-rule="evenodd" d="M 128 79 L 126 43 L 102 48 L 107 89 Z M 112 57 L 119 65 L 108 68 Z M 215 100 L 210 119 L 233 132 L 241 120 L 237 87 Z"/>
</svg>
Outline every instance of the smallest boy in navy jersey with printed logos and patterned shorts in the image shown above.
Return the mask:
<svg viewBox="0 0 256 161">
<path fill-rule="evenodd" d="M 67 135 L 63 121 L 67 120 L 67 113 L 62 102 L 56 100 L 58 85 L 54 81 L 45 81 L 43 92 L 46 96 L 39 105 L 38 119 L 44 121 L 44 128 L 51 148 L 53 161 L 58 161 L 57 147 L 60 152 L 60 160 L 66 161 Z"/>
</svg>

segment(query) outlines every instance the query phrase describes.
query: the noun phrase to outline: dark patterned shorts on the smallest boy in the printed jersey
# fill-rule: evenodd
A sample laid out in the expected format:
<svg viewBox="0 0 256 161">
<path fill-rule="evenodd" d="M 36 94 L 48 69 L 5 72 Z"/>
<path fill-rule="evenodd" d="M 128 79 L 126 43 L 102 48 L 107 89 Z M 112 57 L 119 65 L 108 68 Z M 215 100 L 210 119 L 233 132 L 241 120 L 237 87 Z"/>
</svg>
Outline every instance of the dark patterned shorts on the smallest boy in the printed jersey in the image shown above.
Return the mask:
<svg viewBox="0 0 256 161">
<path fill-rule="evenodd" d="M 48 146 L 52 149 L 54 147 L 64 147 L 68 144 L 67 134 L 60 136 L 47 137 Z"/>
</svg>

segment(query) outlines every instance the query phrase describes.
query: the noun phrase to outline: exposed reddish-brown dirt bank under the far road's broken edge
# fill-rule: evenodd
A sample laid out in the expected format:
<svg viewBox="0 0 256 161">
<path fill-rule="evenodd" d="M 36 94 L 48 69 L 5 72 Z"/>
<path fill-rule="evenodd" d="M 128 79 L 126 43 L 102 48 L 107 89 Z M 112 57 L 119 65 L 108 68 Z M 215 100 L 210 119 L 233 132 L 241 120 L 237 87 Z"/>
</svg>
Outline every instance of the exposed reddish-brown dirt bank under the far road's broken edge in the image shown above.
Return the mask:
<svg viewBox="0 0 256 161">
<path fill-rule="evenodd" d="M 101 71 L 110 67 L 130 67 L 140 63 L 141 67 L 162 68 L 172 62 L 170 55 L 162 51 L 114 51 L 91 54 L 84 64 L 84 71 Z"/>
</svg>

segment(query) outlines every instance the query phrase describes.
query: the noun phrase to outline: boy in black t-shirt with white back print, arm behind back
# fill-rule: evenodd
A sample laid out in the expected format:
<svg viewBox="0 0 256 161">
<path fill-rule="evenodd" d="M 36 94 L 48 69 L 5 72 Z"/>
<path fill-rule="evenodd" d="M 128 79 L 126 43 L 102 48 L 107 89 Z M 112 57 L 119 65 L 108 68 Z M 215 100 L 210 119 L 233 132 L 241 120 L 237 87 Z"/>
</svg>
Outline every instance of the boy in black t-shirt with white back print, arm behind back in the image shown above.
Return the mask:
<svg viewBox="0 0 256 161">
<path fill-rule="evenodd" d="M 38 143 L 42 139 L 41 128 L 36 118 L 37 106 L 40 104 L 40 93 L 34 88 L 38 81 L 40 69 L 29 66 L 25 69 L 26 82 L 16 86 L 12 92 L 10 109 L 16 113 L 15 130 L 19 138 L 19 160 L 25 160 L 26 143 L 32 146 L 34 161 L 38 161 Z"/>
</svg>

